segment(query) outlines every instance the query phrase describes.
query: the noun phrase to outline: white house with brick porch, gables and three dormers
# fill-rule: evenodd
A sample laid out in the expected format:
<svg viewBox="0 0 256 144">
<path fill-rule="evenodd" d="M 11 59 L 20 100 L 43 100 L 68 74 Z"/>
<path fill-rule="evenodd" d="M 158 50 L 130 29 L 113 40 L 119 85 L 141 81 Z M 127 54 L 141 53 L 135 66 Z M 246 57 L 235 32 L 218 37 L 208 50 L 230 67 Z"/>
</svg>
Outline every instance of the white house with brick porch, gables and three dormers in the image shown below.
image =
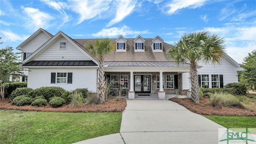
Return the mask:
<svg viewBox="0 0 256 144">
<path fill-rule="evenodd" d="M 63 32 L 55 35 L 40 28 L 16 49 L 22 51 L 23 67 L 28 68 L 28 87 L 60 86 L 66 90 L 88 88 L 97 92 L 98 62 L 86 50 L 96 39 L 72 39 Z M 172 45 L 162 38 L 110 39 L 115 49 L 104 57 L 105 77 L 120 84 L 134 99 L 135 94 L 186 95 L 190 89 L 189 64 L 170 60 L 166 54 Z M 200 86 L 223 87 L 238 82 L 241 68 L 228 55 L 221 65 L 200 63 Z"/>
</svg>

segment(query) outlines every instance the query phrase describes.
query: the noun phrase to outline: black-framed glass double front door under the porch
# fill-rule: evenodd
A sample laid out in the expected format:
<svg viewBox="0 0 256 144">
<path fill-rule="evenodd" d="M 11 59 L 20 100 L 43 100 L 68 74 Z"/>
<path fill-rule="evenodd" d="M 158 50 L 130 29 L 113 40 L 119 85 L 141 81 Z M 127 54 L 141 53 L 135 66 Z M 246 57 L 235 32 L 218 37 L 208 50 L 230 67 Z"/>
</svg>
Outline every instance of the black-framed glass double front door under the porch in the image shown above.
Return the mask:
<svg viewBox="0 0 256 144">
<path fill-rule="evenodd" d="M 134 75 L 135 93 L 151 93 L 150 75 Z"/>
</svg>

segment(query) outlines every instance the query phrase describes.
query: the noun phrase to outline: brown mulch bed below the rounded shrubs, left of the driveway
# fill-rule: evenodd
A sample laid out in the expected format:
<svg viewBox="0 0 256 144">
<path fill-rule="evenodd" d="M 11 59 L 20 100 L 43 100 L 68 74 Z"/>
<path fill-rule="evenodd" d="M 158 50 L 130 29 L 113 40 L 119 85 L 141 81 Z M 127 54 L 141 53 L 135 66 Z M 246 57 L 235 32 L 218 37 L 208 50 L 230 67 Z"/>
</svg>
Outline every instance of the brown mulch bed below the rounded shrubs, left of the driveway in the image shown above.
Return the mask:
<svg viewBox="0 0 256 144">
<path fill-rule="evenodd" d="M 104 102 L 104 104 L 94 104 L 94 105 L 80 105 L 79 107 L 68 107 L 65 104 L 58 108 L 51 108 L 49 104 L 44 107 L 37 106 L 15 106 L 9 99 L 4 99 L 0 101 L 0 109 L 2 110 L 23 110 L 23 111 L 41 111 L 41 112 L 123 112 L 126 107 L 126 99 L 121 98 L 120 100 L 116 98 L 111 98 Z"/>
</svg>

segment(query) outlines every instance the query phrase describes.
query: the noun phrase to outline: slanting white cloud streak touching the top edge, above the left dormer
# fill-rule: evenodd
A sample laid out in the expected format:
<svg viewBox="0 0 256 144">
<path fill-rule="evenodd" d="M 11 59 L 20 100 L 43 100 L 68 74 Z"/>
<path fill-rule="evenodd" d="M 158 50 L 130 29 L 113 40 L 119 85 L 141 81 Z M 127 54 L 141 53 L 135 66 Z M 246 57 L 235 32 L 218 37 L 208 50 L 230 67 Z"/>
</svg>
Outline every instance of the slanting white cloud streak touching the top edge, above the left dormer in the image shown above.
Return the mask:
<svg viewBox="0 0 256 144">
<path fill-rule="evenodd" d="M 116 17 L 111 20 L 107 26 L 112 26 L 120 21 L 122 21 L 126 16 L 128 16 L 135 8 L 136 2 L 132 0 L 120 0 L 119 3 L 115 6 L 117 7 L 116 10 Z"/>
</svg>

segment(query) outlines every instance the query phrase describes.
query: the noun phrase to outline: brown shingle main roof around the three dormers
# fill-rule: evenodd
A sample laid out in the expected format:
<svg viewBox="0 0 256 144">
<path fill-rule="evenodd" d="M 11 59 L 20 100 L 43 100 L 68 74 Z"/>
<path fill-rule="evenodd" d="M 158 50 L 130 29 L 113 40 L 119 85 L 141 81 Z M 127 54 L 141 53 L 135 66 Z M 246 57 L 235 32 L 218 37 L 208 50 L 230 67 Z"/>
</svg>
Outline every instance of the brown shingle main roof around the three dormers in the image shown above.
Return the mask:
<svg viewBox="0 0 256 144">
<path fill-rule="evenodd" d="M 141 62 L 141 61 L 152 61 L 152 62 L 168 62 L 173 61 L 170 60 L 167 56 L 168 48 L 172 47 L 172 45 L 167 44 L 163 42 L 163 52 L 153 52 L 151 47 L 149 46 L 150 42 L 153 40 L 152 38 L 144 38 L 145 44 L 144 44 L 144 52 L 134 52 L 134 38 L 126 38 L 127 40 L 127 46 L 126 46 L 126 52 L 116 52 L 116 49 L 114 49 L 110 54 L 104 56 L 105 61 L 126 61 L 126 62 Z M 81 46 L 86 48 L 86 45 L 89 42 L 94 43 L 96 39 L 74 39 L 76 42 L 78 42 Z M 116 48 L 116 39 L 110 39 L 113 45 Z"/>
</svg>

